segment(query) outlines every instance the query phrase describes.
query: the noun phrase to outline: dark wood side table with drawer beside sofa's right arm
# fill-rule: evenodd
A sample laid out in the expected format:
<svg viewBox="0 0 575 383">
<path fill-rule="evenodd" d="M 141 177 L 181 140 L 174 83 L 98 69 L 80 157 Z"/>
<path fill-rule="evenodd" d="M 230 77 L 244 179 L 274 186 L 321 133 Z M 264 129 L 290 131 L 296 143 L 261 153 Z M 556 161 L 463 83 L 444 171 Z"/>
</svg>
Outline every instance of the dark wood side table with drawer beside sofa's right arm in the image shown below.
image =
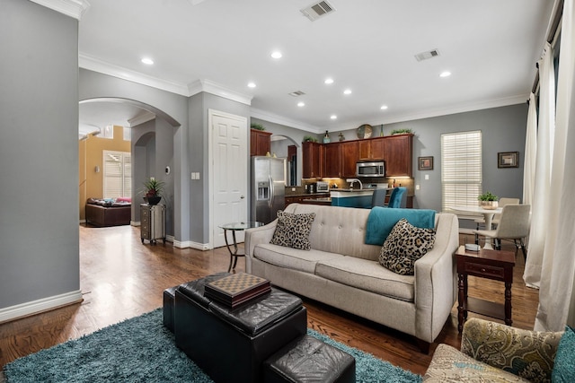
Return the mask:
<svg viewBox="0 0 575 383">
<path fill-rule="evenodd" d="M 457 320 L 459 333 L 463 331 L 467 311 L 482 314 L 491 318 L 505 319 L 505 324 L 511 326 L 511 284 L 513 283 L 513 267 L 515 254 L 511 251 L 465 250 L 460 246 L 456 252 L 457 284 L 459 287 L 459 303 Z M 505 304 L 467 297 L 467 276 L 473 275 L 505 283 Z"/>
</svg>

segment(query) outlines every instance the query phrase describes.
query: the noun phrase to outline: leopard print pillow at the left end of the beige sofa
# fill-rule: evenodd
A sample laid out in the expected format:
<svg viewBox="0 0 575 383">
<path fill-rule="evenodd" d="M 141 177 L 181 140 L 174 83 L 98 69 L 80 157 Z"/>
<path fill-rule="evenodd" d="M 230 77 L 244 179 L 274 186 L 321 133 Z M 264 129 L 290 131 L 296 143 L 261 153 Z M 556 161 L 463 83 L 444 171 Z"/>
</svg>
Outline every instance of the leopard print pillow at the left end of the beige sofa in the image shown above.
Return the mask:
<svg viewBox="0 0 575 383">
<path fill-rule="evenodd" d="M 301 250 L 311 249 L 309 233 L 312 231 L 315 213 L 285 213 L 278 211 L 278 224 L 270 243 Z"/>
</svg>

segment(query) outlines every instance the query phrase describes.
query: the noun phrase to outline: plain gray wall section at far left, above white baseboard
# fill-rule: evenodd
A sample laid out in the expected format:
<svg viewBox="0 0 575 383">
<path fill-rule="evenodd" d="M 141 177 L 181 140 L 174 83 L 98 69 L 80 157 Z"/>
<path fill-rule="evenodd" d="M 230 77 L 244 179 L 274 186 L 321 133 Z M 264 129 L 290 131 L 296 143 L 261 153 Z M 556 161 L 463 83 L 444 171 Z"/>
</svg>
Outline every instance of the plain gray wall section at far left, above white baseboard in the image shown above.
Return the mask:
<svg viewBox="0 0 575 383">
<path fill-rule="evenodd" d="M 78 292 L 78 22 L 0 2 L 0 309 Z"/>
</svg>

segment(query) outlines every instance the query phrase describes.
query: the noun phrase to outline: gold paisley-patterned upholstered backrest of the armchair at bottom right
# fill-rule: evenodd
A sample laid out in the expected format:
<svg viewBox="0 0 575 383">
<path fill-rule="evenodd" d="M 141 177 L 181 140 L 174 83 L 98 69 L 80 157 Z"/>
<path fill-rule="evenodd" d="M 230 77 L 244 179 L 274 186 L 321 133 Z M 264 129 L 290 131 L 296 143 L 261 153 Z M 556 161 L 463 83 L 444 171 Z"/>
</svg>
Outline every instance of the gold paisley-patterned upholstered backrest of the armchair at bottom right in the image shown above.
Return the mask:
<svg viewBox="0 0 575 383">
<path fill-rule="evenodd" d="M 461 352 L 521 378 L 551 381 L 553 361 L 563 332 L 538 332 L 480 318 L 464 324 Z"/>
</svg>

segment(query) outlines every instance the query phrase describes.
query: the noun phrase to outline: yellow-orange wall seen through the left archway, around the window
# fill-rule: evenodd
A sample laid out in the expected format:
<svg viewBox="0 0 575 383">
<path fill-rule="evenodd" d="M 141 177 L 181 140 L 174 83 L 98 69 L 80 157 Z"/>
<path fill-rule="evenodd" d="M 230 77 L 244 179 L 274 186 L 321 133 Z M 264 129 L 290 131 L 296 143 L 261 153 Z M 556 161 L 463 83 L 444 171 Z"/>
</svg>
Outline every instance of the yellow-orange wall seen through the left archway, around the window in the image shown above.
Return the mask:
<svg viewBox="0 0 575 383">
<path fill-rule="evenodd" d="M 114 126 L 114 138 L 89 135 L 78 144 L 80 158 L 80 221 L 85 219 L 86 199 L 101 198 L 103 195 L 103 151 L 130 152 L 131 144 L 124 141 L 122 126 Z M 96 173 L 98 166 L 100 172 Z"/>
</svg>

